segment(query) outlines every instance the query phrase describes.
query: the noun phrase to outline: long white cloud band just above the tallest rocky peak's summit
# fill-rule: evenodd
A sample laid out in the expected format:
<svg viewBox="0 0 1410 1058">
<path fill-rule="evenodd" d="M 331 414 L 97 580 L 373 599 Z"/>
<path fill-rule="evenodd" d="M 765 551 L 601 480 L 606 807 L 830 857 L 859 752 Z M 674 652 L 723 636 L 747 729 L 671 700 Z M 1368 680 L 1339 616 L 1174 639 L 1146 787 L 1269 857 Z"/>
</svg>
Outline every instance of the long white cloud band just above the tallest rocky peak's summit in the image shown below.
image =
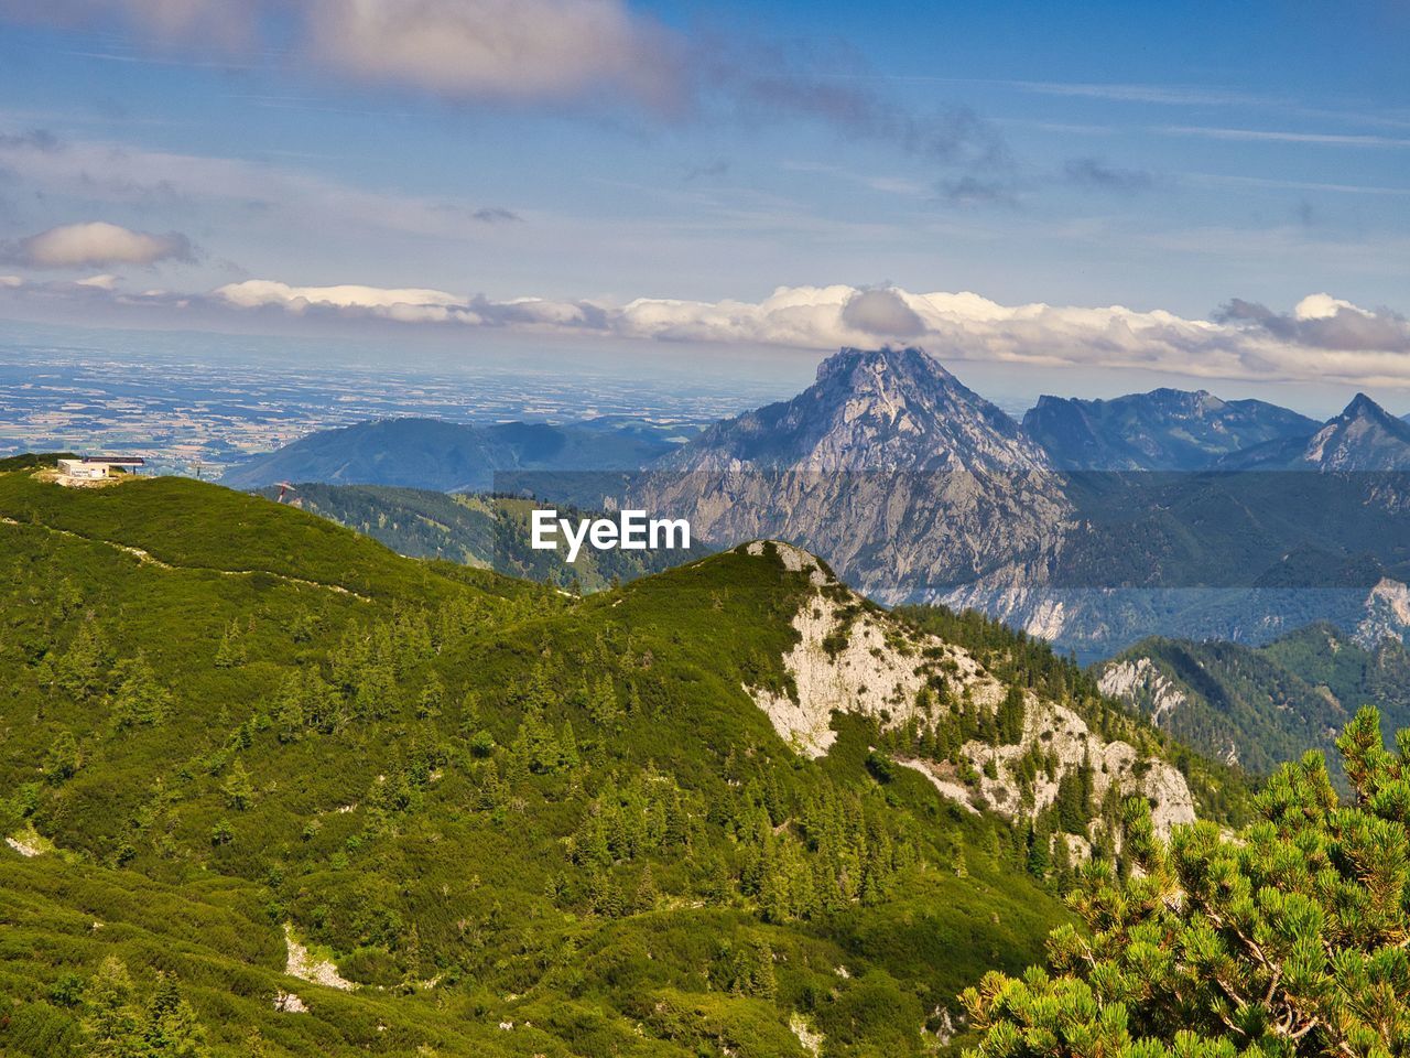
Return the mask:
<svg viewBox="0 0 1410 1058">
<path fill-rule="evenodd" d="M 1148 370 L 1203 379 L 1410 385 L 1410 323 L 1389 310 L 1358 309 L 1330 295 L 1311 295 L 1290 315 L 1231 302 L 1217 322 L 1120 305 L 1001 305 L 971 292 L 847 285 L 780 286 L 759 302 L 640 298 L 613 306 L 252 279 L 223 286 L 213 299 L 293 313 L 319 308 L 402 323 L 649 341 L 808 350 L 914 343 L 956 361 Z"/>
</svg>

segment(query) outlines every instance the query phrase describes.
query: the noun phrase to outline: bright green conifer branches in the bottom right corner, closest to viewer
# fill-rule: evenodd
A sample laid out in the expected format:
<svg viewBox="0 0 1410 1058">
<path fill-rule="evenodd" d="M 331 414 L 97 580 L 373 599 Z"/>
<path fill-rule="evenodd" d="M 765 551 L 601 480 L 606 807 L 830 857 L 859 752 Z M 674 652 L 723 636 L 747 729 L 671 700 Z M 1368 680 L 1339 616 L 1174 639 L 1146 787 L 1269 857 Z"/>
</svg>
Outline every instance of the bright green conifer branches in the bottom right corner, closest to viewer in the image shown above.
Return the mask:
<svg viewBox="0 0 1410 1058">
<path fill-rule="evenodd" d="M 964 993 L 970 1058 L 1392 1058 L 1410 1052 L 1410 732 L 1385 748 L 1362 708 L 1338 739 L 1341 804 L 1320 753 L 1285 765 L 1237 835 L 1155 835 L 1124 805 L 1124 855 L 1083 869 L 1086 930 L 1049 965 Z"/>
</svg>

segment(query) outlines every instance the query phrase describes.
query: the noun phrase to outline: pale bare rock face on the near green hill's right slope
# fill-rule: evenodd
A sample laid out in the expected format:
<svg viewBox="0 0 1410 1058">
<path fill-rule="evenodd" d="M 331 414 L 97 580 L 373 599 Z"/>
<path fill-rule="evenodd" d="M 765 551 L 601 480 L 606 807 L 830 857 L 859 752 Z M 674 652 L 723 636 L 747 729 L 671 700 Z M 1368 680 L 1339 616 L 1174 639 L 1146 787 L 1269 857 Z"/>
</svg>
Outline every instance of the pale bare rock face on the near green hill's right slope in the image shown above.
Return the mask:
<svg viewBox="0 0 1410 1058">
<path fill-rule="evenodd" d="M 967 698 L 993 708 L 1004 698 L 1008 688 L 963 647 L 919 633 L 867 604 L 807 553 L 774 546 L 788 568 L 811 568 L 815 574 L 814 590 L 792 621 L 798 643 L 783 659 L 797 695 L 746 690 L 797 752 L 809 758 L 828 753 L 836 741 L 835 711 L 873 717 L 883 729 L 925 719 L 919 691 L 933 680 L 945 683 L 952 701 Z M 764 553 L 760 543 L 744 547 L 750 554 Z M 1122 796 L 1145 796 L 1160 834 L 1194 821 L 1194 798 L 1172 765 L 1141 758 L 1128 742 L 1103 741 L 1069 707 L 1032 691 L 1025 694 L 1024 731 L 1017 745 L 967 742 L 960 749 L 967 765 L 963 770 L 929 760 L 898 763 L 925 774 L 962 805 L 988 807 L 1010 820 L 1035 818 L 1055 803 L 1063 776 L 1087 766 L 1094 800 L 1100 801 L 1112 786 Z M 1019 762 L 1035 746 L 1055 760 L 1055 770 L 1050 777 L 1039 772 L 1025 790 Z"/>
</svg>

